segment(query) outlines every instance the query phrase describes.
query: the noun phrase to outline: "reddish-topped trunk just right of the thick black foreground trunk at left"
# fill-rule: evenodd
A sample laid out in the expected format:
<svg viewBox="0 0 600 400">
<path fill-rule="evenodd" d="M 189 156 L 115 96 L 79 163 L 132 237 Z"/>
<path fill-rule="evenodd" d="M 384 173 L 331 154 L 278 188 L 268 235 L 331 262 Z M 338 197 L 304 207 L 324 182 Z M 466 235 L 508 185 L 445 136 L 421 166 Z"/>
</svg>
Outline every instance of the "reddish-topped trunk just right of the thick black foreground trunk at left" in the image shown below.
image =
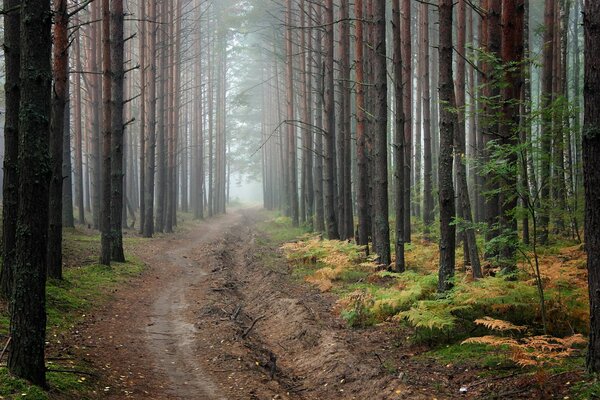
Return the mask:
<svg viewBox="0 0 600 400">
<path fill-rule="evenodd" d="M 50 121 L 50 207 L 48 209 L 48 276 L 62 279 L 62 186 L 65 105 L 69 80 L 69 16 L 67 0 L 54 0 L 52 117 Z M 70 171 L 69 171 L 70 172 Z"/>
</svg>

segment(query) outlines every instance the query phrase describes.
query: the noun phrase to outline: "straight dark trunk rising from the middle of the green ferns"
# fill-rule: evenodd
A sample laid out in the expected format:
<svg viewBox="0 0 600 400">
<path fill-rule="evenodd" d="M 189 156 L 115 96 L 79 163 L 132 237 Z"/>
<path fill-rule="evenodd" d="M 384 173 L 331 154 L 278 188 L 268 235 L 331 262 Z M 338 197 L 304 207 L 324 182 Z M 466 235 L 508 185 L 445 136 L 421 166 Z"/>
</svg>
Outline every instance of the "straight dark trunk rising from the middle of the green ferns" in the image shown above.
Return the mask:
<svg viewBox="0 0 600 400">
<path fill-rule="evenodd" d="M 452 78 L 452 0 L 439 0 L 439 92 L 443 106 L 440 112 L 440 165 L 439 207 L 440 207 L 440 270 L 438 290 L 444 292 L 452 288 L 455 267 L 456 228 L 452 223 L 456 211 L 454 186 L 452 184 L 452 152 L 454 130 L 456 129 L 454 84 Z"/>
</svg>

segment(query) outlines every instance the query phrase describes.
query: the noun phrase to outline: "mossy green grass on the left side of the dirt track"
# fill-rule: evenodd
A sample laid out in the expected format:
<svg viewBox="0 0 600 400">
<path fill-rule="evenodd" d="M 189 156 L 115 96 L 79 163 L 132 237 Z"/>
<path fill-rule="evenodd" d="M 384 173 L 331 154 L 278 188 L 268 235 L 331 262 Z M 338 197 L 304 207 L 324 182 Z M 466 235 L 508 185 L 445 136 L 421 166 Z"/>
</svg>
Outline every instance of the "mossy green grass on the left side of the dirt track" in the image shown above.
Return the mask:
<svg viewBox="0 0 600 400">
<path fill-rule="evenodd" d="M 125 246 L 141 242 L 137 237 L 125 237 Z M 50 372 L 52 369 L 89 371 L 90 365 L 82 360 L 52 361 L 53 352 L 60 352 L 61 343 L 69 331 L 87 318 L 96 307 L 106 304 L 114 291 L 144 271 L 144 264 L 134 255 L 126 254 L 127 262 L 113 263 L 107 267 L 97 264 L 100 239 L 97 234 L 85 229 L 66 229 L 64 232 L 64 279 L 49 280 L 46 286 L 47 343 L 49 372 L 46 392 L 27 382 L 16 379 L 4 367 L 0 368 L 0 399 L 85 399 L 94 390 L 94 379 L 85 374 Z M 9 316 L 6 306 L 0 310 L 0 334 L 8 334 Z M 60 354 L 57 354 L 60 355 Z M 60 357 L 58 357 L 60 358 Z"/>
</svg>

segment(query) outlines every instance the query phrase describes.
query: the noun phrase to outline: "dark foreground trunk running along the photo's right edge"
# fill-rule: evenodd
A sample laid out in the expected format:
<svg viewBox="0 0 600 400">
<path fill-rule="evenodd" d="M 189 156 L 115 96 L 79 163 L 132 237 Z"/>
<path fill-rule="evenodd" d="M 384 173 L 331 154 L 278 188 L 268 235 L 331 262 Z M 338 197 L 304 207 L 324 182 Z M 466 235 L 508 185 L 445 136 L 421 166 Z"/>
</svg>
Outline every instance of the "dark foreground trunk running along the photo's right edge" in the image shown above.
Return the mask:
<svg viewBox="0 0 600 400">
<path fill-rule="evenodd" d="M 585 247 L 590 294 L 590 342 L 586 359 L 590 372 L 600 372 L 600 2 L 584 3 L 583 178 L 585 186 Z"/>
</svg>

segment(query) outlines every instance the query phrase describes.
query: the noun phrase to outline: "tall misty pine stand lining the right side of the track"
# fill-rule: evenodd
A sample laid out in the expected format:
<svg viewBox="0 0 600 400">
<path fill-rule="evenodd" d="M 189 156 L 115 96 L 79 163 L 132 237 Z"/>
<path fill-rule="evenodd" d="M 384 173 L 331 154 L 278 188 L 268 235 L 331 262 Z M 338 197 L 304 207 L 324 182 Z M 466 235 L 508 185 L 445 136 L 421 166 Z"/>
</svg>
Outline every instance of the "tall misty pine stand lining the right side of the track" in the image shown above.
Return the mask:
<svg viewBox="0 0 600 400">
<path fill-rule="evenodd" d="M 595 3 L 282 1 L 263 57 L 265 207 L 396 272 L 422 226 L 439 243 L 440 292 L 458 245 L 475 279 L 483 265 L 510 276 L 523 251 L 583 241 L 585 215 L 598 370 L 600 197 L 584 178 L 600 165 L 581 103 L 596 90 Z"/>
</svg>

